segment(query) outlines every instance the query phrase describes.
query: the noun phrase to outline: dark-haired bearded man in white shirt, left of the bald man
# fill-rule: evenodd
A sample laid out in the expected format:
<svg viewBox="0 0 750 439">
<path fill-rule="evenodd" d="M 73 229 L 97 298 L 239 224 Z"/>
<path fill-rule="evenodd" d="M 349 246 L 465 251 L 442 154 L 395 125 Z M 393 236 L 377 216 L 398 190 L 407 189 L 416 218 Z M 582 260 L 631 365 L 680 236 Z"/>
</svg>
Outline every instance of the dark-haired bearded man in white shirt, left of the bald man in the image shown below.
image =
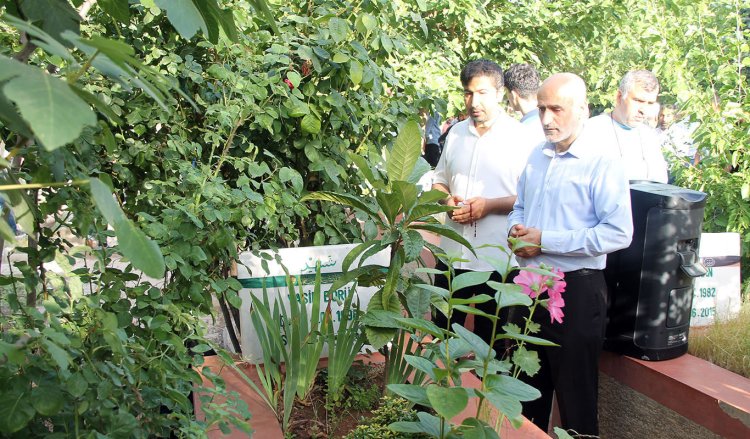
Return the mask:
<svg viewBox="0 0 750 439">
<path fill-rule="evenodd" d="M 445 141 L 433 179 L 433 189 L 445 192 L 445 203 L 460 206 L 449 212 L 448 224 L 467 241 L 477 255 L 494 259 L 510 258 L 497 248 L 476 249 L 483 244 L 507 246 L 503 230 L 507 215 L 516 200 L 516 184 L 526 163 L 533 142 L 521 124 L 506 115 L 500 107 L 503 99 L 503 71 L 494 62 L 476 60 L 461 71 L 464 102 L 468 118 L 450 130 Z M 441 247 L 449 254 L 458 254 L 466 262 L 454 265 L 456 274 L 466 271 L 492 272 L 492 280 L 501 281 L 492 265 L 474 256 L 457 242 L 443 238 Z M 506 247 L 507 248 L 507 247 Z M 439 263 L 438 269 L 447 270 Z M 443 276 L 436 276 L 435 284 L 447 287 Z M 495 291 L 478 285 L 454 292 L 453 297 L 471 297 L 477 294 L 494 297 Z M 486 313 L 495 313 L 495 302 L 479 304 Z M 454 312 L 452 323 L 463 324 L 466 314 Z M 448 321 L 440 312 L 435 318 L 438 326 L 445 328 Z M 501 322 L 500 327 L 505 322 Z M 475 332 L 488 343 L 492 331 L 490 319 L 476 316 Z"/>
</svg>

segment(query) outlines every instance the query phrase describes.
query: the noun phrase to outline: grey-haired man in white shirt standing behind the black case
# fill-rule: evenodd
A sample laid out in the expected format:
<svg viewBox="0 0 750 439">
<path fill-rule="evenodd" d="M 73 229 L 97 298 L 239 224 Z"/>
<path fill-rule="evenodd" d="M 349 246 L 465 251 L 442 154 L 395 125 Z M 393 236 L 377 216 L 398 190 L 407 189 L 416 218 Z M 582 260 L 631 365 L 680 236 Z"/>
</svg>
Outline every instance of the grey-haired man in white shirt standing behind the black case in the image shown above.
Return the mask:
<svg viewBox="0 0 750 439">
<path fill-rule="evenodd" d="M 608 153 L 619 157 L 629 180 L 667 182 L 667 162 L 656 132 L 645 124 L 657 105 L 659 80 L 648 70 L 631 70 L 623 76 L 611 112 L 586 123 Z"/>
</svg>

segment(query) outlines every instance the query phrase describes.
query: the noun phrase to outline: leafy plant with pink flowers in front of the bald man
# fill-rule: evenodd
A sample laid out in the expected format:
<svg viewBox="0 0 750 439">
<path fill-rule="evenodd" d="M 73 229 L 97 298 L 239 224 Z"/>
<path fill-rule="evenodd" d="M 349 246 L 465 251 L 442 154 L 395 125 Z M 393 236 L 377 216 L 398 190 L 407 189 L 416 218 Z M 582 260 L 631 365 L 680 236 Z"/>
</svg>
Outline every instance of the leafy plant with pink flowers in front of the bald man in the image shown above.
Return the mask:
<svg viewBox="0 0 750 439">
<path fill-rule="evenodd" d="M 434 272 L 432 269 L 428 270 Z M 436 300 L 445 302 L 449 316 L 453 309 L 457 308 L 491 319 L 494 322 L 491 339 L 493 341 L 516 340 L 514 353 L 511 359 L 499 359 L 492 346 L 458 324 L 453 324 L 451 328 L 438 328 L 423 319 L 396 319 L 404 328 L 439 338 L 441 342 L 427 345 L 427 349 L 434 354 L 433 359 L 414 355 L 405 356 L 406 361 L 427 375 L 428 379 L 425 383 L 388 385 L 392 392 L 414 404 L 432 409 L 434 414 L 418 412 L 418 420 L 395 422 L 391 424 L 391 428 L 404 433 L 421 432 L 437 438 L 453 437 L 458 434 L 498 437 L 496 431 L 499 425 L 490 426 L 482 420 L 482 409 L 485 404 L 489 403 L 501 414 L 498 424 L 507 417 L 514 426 L 518 427 L 522 422 L 521 402 L 539 397 L 536 389 L 518 378 L 522 372 L 534 375 L 539 370 L 539 358 L 536 352 L 527 350 L 524 345 L 531 343 L 554 346 L 553 343 L 533 335 L 539 329 L 538 325 L 532 322 L 532 317 L 539 305 L 547 307 L 553 316 L 560 315 L 559 308 L 564 304 L 560 295 L 564 282 L 559 280 L 561 276 L 559 271 L 553 272 L 545 268 L 523 268 L 522 274 L 516 278 L 517 284 L 487 282 L 489 273 L 469 272 L 454 277 L 451 270 L 442 273 L 449 281 L 448 289 L 434 286 L 426 288 L 439 296 Z M 500 271 L 503 279 L 507 277 L 509 271 L 509 266 Z M 457 289 L 470 288 L 485 282 L 497 291 L 494 297 L 496 302 L 494 315 L 466 306 L 468 303 L 483 303 L 492 300 L 492 297 L 486 295 L 475 296 L 471 299 L 452 297 L 452 292 Z M 541 294 L 545 291 L 549 293 L 549 299 L 542 299 Z M 500 310 L 507 306 L 530 307 L 529 317 L 527 317 L 523 331 L 514 324 L 508 324 L 503 327 L 505 331 L 500 332 L 500 328 L 497 327 Z M 481 378 L 480 388 L 471 389 L 462 386 L 461 374 L 466 371 L 473 371 Z M 476 415 L 466 418 L 461 425 L 452 425 L 451 418 L 461 413 L 471 398 L 478 398 Z"/>
</svg>

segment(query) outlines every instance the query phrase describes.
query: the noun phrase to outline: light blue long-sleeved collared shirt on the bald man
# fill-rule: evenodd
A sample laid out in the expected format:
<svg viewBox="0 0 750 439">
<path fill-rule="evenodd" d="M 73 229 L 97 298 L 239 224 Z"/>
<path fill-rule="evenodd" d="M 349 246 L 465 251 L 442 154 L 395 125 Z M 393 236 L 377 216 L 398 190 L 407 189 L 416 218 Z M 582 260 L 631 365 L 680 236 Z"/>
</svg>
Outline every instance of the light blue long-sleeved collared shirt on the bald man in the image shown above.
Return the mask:
<svg viewBox="0 0 750 439">
<path fill-rule="evenodd" d="M 633 220 L 624 170 L 586 133 L 562 154 L 546 142 L 529 156 L 508 230 L 516 224 L 541 230 L 542 254 L 517 257 L 521 266 L 603 269 L 607 253 L 630 245 Z"/>
</svg>

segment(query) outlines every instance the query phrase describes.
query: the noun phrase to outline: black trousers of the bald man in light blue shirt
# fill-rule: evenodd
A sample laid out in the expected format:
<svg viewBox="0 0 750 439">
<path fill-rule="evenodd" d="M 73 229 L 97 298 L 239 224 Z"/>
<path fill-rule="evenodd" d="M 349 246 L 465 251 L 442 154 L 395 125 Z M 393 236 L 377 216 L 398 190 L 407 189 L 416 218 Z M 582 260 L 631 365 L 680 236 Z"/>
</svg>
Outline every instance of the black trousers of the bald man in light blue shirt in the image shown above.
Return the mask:
<svg viewBox="0 0 750 439">
<path fill-rule="evenodd" d="M 533 377 L 521 374 L 521 379 L 542 396 L 524 403 L 523 414 L 546 432 L 556 393 L 562 427 L 598 436 L 599 354 L 604 342 L 607 285 L 601 271 L 573 272 L 565 281 L 563 323 L 550 323 L 549 312 L 542 307 L 534 312 L 533 320 L 542 328 L 540 336 L 560 346 L 536 346 L 541 370 Z"/>
</svg>

